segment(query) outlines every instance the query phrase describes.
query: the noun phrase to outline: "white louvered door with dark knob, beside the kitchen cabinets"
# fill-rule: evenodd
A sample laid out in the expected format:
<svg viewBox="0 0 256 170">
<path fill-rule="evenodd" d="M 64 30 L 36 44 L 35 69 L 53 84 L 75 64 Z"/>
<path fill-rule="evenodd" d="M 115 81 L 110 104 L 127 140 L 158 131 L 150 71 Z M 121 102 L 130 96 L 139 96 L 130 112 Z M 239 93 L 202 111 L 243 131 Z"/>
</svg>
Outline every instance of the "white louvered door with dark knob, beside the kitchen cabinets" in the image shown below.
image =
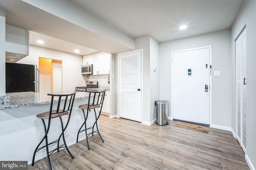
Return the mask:
<svg viewBox="0 0 256 170">
<path fill-rule="evenodd" d="M 119 116 L 141 122 L 141 55 L 142 51 L 118 54 Z"/>
</svg>

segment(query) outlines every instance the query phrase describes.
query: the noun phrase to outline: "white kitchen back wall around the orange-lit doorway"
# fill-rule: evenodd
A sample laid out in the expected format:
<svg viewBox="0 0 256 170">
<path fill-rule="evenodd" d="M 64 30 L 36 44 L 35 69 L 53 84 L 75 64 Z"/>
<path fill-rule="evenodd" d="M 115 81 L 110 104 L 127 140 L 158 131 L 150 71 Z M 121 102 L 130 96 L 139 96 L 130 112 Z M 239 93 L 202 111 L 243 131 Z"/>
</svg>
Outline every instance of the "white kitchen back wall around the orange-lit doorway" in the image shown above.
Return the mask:
<svg viewBox="0 0 256 170">
<path fill-rule="evenodd" d="M 81 74 L 82 56 L 46 49 L 34 45 L 30 45 L 29 55 L 21 59 L 17 63 L 36 64 L 38 65 L 38 57 L 56 59 L 62 61 L 62 92 L 74 92 L 76 86 L 84 86 L 84 78 Z M 44 86 L 40 85 L 40 90 Z"/>
</svg>

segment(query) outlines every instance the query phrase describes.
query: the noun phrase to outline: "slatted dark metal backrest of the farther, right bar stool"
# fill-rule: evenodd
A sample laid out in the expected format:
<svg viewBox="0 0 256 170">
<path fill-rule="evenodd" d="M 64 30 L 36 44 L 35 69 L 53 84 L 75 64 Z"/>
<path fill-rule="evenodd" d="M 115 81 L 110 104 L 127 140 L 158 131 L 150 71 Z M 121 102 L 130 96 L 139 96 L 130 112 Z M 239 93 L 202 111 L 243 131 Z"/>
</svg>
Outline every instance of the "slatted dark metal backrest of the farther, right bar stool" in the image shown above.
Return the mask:
<svg viewBox="0 0 256 170">
<path fill-rule="evenodd" d="M 105 96 L 106 90 L 101 90 L 101 91 L 88 90 L 87 92 L 89 92 L 88 107 L 96 106 L 96 105 L 100 105 L 100 107 L 101 107 L 103 104 L 103 101 L 104 101 L 104 96 Z M 100 111 L 101 111 L 101 109 L 100 109 Z"/>
</svg>

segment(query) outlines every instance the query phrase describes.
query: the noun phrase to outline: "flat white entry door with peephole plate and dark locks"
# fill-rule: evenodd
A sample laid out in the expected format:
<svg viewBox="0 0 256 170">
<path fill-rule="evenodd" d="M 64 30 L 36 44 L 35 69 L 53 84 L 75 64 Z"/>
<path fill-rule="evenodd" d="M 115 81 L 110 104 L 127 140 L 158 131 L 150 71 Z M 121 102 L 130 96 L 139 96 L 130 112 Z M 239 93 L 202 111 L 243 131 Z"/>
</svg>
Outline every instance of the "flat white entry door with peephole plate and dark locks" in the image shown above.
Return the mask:
<svg viewBox="0 0 256 170">
<path fill-rule="evenodd" d="M 173 119 L 210 125 L 211 46 L 172 52 Z"/>
</svg>

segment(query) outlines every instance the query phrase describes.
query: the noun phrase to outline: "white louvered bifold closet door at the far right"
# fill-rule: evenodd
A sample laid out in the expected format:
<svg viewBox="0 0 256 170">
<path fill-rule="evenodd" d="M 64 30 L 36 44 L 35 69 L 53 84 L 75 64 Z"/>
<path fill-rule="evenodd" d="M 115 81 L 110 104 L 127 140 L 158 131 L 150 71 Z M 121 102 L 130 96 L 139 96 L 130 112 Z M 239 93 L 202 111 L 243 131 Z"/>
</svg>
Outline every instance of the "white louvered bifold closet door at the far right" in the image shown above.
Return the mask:
<svg viewBox="0 0 256 170">
<path fill-rule="evenodd" d="M 236 137 L 246 152 L 246 29 L 236 40 Z"/>
</svg>

